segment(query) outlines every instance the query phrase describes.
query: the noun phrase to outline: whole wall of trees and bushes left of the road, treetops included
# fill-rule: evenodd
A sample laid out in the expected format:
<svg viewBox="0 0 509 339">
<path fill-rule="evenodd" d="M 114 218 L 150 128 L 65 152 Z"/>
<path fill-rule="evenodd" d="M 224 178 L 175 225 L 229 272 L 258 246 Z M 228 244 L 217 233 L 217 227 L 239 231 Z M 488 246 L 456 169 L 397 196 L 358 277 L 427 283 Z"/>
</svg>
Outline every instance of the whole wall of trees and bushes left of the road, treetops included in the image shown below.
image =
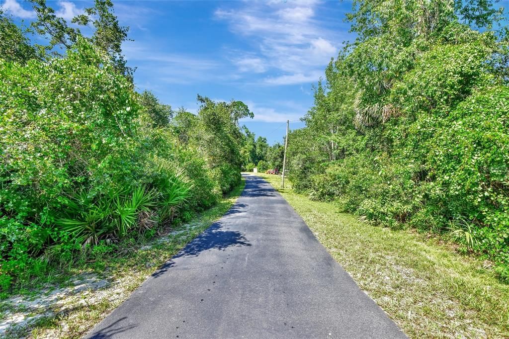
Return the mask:
<svg viewBox="0 0 509 339">
<path fill-rule="evenodd" d="M 199 95 L 194 115 L 136 92 L 110 0 L 72 26 L 31 3 L 30 26 L 0 13 L 0 293 L 189 220 L 271 149 L 241 101 Z"/>
</svg>

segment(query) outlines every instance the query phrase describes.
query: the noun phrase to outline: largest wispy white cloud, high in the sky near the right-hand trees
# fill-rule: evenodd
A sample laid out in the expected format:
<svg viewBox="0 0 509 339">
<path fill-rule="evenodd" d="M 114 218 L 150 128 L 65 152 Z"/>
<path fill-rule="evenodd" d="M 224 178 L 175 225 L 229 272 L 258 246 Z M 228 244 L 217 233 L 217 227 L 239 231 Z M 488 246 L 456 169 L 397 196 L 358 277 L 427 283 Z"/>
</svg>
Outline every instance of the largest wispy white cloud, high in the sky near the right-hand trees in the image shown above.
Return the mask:
<svg viewBox="0 0 509 339">
<path fill-rule="evenodd" d="M 256 46 L 236 62 L 239 71 L 275 75 L 268 85 L 315 82 L 324 66 L 337 55 L 337 32 L 316 18 L 319 2 L 249 2 L 238 9 L 218 9 L 216 18 L 227 21 L 231 31 L 249 38 Z"/>
</svg>

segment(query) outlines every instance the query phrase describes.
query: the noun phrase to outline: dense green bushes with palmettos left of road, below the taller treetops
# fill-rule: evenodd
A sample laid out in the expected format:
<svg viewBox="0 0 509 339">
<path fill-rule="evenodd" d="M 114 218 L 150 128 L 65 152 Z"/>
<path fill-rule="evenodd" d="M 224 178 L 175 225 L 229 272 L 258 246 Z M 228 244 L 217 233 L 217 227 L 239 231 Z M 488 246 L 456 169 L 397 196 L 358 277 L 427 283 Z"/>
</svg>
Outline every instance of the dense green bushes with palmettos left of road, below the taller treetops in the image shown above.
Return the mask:
<svg viewBox="0 0 509 339">
<path fill-rule="evenodd" d="M 13 278 L 51 261 L 72 262 L 99 243 L 151 236 L 210 207 L 240 181 L 237 159 L 217 161 L 197 143 L 182 143 L 168 120 L 171 108 L 134 93 L 83 39 L 65 58 L 26 65 L 0 59 L 0 77 L 3 290 Z M 209 103 L 208 122 L 216 115 Z M 236 154 L 231 136 L 240 131 L 228 119 L 224 152 Z M 218 140 L 224 125 L 200 135 Z M 210 147 L 223 152 L 223 144 Z"/>
</svg>

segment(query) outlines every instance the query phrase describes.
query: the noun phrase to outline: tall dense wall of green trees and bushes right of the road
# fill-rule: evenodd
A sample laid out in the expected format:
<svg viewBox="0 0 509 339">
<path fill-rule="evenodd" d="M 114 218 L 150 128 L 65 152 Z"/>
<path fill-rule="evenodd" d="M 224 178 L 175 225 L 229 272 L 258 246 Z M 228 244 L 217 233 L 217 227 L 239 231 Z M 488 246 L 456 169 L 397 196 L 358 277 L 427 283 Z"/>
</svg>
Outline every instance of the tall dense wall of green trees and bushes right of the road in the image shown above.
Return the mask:
<svg viewBox="0 0 509 339">
<path fill-rule="evenodd" d="M 290 135 L 294 187 L 367 222 L 448 234 L 509 279 L 507 38 L 460 24 L 465 4 L 428 21 L 409 15 L 416 2 L 373 4 L 354 4 L 359 38 Z"/>
</svg>

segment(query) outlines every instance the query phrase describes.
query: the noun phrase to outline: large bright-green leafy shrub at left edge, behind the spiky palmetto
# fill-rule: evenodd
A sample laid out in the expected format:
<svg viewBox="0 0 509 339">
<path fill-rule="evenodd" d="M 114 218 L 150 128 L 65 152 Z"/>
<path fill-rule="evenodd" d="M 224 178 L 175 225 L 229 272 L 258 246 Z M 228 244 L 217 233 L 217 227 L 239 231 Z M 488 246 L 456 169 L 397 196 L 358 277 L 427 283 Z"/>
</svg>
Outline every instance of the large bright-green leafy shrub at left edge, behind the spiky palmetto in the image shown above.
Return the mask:
<svg viewBox="0 0 509 339">
<path fill-rule="evenodd" d="M 130 83 L 86 42 L 67 58 L 0 60 L 2 271 L 21 273 L 59 242 L 73 192 L 122 191 L 143 172 Z"/>
</svg>

